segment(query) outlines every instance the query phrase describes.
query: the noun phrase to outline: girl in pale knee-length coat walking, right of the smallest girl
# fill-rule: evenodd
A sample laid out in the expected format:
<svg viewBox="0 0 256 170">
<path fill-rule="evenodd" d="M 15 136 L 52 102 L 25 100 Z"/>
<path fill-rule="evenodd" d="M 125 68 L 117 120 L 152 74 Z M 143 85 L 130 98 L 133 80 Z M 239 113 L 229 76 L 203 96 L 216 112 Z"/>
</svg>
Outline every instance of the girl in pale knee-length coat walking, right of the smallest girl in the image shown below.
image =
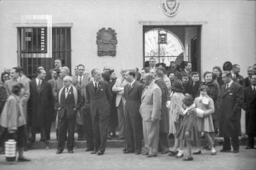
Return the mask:
<svg viewBox="0 0 256 170">
<path fill-rule="evenodd" d="M 198 136 L 201 136 L 201 132 L 204 132 L 204 136 L 208 141 L 208 145 L 211 148 L 211 154 L 216 155 L 216 150 L 214 148 L 214 141 L 212 140 L 210 133 L 214 132 L 214 125 L 212 122 L 212 113 L 214 113 L 214 102 L 207 95 L 208 87 L 206 85 L 202 85 L 199 88 L 200 96 L 195 98 L 196 109 L 200 109 L 202 112 L 197 112 L 197 126 L 198 126 Z M 193 155 L 197 155 L 201 153 L 200 150 L 201 143 L 200 140 L 197 141 L 197 150 L 193 152 Z"/>
</svg>

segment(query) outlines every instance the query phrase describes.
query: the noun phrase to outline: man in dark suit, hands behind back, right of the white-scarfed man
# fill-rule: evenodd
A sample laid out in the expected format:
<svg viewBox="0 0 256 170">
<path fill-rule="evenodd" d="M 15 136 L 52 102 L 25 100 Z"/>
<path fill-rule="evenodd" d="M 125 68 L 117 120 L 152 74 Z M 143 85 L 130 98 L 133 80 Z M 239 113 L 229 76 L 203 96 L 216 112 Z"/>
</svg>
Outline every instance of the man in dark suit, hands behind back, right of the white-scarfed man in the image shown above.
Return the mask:
<svg viewBox="0 0 256 170">
<path fill-rule="evenodd" d="M 108 138 L 109 107 L 111 92 L 108 84 L 100 81 L 99 69 L 92 69 L 93 81 L 86 86 L 86 102 L 90 104 L 93 124 L 94 150 L 92 154 L 102 155 L 105 152 Z"/>
</svg>

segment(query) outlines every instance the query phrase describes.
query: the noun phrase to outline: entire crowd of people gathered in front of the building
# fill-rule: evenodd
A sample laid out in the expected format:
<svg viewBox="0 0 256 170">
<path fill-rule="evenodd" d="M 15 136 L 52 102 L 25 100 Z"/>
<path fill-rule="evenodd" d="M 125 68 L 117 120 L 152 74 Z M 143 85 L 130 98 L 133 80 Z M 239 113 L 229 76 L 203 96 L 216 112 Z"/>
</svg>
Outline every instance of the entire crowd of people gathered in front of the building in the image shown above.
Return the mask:
<svg viewBox="0 0 256 170">
<path fill-rule="evenodd" d="M 256 64 L 248 67 L 248 76 L 239 74 L 239 64 L 226 62 L 223 70 L 214 66 L 200 74 L 192 71 L 191 62 L 180 65 L 156 63 L 150 58 L 139 71 L 121 69 L 120 78 L 109 67 L 88 71 L 83 64 L 70 69 L 54 61 L 49 73 L 40 66 L 36 78 L 29 79 L 23 67 L 4 69 L 0 84 L 0 146 L 15 139 L 18 161 L 28 144 L 36 140 L 49 143 L 52 122 L 56 122 L 57 154 L 74 153 L 77 140 L 86 140 L 86 152 L 102 155 L 108 139 L 125 141 L 124 153 L 156 157 L 168 153 L 184 157 L 201 152 L 200 139 L 207 139 L 205 149 L 216 155 L 214 138 L 223 137 L 220 152 L 239 152 L 241 110 L 246 111 L 246 149 L 254 148 L 256 134 Z M 91 74 L 91 75 L 90 75 Z M 116 133 L 118 129 L 118 133 Z M 117 135 L 118 134 L 118 135 Z M 174 138 L 169 149 L 168 138 Z M 142 146 L 144 141 L 144 146 Z M 191 151 L 196 142 L 195 152 Z M 142 150 L 142 148 L 145 148 Z"/>
</svg>

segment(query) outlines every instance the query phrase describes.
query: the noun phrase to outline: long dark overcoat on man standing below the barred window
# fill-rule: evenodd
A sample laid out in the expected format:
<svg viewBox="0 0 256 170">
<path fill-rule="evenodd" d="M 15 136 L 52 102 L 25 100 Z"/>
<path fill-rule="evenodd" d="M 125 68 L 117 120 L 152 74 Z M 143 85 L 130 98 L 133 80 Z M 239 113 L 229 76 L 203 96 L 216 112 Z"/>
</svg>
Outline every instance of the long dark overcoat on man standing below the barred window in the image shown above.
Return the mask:
<svg viewBox="0 0 256 170">
<path fill-rule="evenodd" d="M 51 121 L 52 117 L 51 84 L 43 80 L 38 90 L 36 80 L 33 79 L 29 82 L 29 89 L 29 125 L 32 127 L 45 127 L 46 121 Z"/>
</svg>

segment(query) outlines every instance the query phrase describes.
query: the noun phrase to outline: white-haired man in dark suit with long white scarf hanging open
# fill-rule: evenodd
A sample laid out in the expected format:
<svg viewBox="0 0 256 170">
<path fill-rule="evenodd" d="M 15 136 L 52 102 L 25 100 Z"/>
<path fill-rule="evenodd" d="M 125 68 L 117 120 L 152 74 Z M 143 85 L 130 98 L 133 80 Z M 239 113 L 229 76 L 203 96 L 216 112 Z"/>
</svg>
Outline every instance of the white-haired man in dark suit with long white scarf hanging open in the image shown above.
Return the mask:
<svg viewBox="0 0 256 170">
<path fill-rule="evenodd" d="M 76 125 L 76 114 L 83 104 L 80 91 L 72 85 L 72 77 L 63 78 L 64 87 L 58 92 L 58 150 L 57 154 L 63 152 L 65 137 L 68 131 L 68 153 L 74 153 L 74 131 Z"/>
</svg>

